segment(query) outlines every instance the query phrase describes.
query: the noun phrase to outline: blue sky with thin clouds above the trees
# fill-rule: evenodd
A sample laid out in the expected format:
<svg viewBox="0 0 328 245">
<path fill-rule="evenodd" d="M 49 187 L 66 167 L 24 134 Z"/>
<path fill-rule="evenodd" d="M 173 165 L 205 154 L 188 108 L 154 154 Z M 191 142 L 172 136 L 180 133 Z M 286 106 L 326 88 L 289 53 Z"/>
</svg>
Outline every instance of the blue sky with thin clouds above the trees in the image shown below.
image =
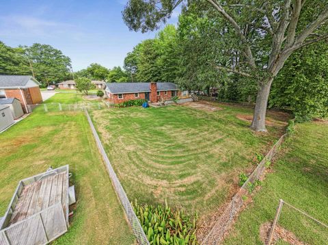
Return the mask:
<svg viewBox="0 0 328 245">
<path fill-rule="evenodd" d="M 0 40 L 16 47 L 50 44 L 72 59 L 73 70 L 99 63 L 122 66 L 126 53 L 155 33 L 129 31 L 122 21 L 125 0 L 1 0 Z M 174 12 L 169 23 L 177 23 Z"/>
</svg>

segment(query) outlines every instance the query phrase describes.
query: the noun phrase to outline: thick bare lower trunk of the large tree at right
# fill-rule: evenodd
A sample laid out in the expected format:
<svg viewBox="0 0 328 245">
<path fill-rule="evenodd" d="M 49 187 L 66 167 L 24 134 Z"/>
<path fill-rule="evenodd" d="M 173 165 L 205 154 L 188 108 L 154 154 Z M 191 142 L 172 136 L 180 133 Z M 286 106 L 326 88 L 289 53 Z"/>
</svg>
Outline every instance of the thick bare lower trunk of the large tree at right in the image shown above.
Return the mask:
<svg viewBox="0 0 328 245">
<path fill-rule="evenodd" d="M 267 114 L 267 105 L 270 94 L 271 83 L 273 77 L 264 79 L 260 83 L 258 89 L 258 96 L 256 96 L 256 105 L 254 109 L 254 117 L 251 122 L 251 129 L 258 132 L 266 132 L 265 128 L 265 115 Z"/>
</svg>

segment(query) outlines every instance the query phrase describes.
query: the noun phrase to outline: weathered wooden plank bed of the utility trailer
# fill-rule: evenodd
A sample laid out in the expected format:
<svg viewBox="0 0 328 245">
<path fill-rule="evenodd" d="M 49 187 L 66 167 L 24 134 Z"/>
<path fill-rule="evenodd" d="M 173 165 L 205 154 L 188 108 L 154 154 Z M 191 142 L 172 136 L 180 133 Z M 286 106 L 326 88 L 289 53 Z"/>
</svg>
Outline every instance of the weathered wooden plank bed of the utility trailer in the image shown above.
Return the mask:
<svg viewBox="0 0 328 245">
<path fill-rule="evenodd" d="M 39 181 L 25 185 L 18 196 L 16 207 L 14 208 L 10 224 L 24 220 L 55 203 L 61 202 L 66 214 L 68 203 L 68 173 L 44 177 Z"/>
</svg>

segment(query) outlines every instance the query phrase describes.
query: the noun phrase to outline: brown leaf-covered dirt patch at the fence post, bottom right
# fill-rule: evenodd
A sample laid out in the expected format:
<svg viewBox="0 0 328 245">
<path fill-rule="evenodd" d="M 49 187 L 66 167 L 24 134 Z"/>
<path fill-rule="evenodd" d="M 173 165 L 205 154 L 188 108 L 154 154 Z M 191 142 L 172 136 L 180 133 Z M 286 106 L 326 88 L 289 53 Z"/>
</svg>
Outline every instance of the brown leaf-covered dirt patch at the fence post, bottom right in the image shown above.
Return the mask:
<svg viewBox="0 0 328 245">
<path fill-rule="evenodd" d="M 260 239 L 264 244 L 269 242 L 271 226 L 271 222 L 265 222 L 260 227 Z M 275 244 L 278 240 L 284 240 L 285 242 L 288 242 L 288 244 L 306 245 L 306 243 L 301 242 L 294 233 L 280 227 L 279 225 L 275 227 L 275 233 L 273 234 L 271 244 Z"/>
</svg>

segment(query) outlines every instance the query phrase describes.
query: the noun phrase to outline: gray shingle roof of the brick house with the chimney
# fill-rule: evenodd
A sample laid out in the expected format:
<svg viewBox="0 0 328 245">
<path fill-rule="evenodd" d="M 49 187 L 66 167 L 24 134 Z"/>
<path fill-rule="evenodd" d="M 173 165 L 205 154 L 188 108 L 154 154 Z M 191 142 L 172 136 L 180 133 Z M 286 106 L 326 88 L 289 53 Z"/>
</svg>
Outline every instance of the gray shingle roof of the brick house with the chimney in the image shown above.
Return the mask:
<svg viewBox="0 0 328 245">
<path fill-rule="evenodd" d="M 133 92 L 150 92 L 150 83 L 106 83 L 113 94 L 127 94 Z M 178 90 L 174 83 L 157 83 L 157 91 Z"/>
</svg>

